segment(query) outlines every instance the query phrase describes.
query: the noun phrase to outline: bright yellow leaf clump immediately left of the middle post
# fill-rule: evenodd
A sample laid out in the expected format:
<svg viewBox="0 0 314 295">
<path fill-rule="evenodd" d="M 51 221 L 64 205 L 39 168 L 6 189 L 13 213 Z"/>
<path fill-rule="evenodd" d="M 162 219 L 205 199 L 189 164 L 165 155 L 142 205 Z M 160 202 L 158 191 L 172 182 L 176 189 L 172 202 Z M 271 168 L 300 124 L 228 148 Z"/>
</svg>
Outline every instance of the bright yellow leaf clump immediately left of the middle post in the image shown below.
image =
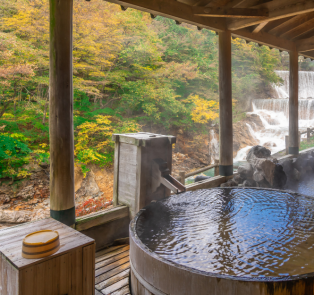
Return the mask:
<svg viewBox="0 0 314 295">
<path fill-rule="evenodd" d="M 205 100 L 198 95 L 190 96 L 190 99 L 195 104 L 191 113 L 195 123 L 205 124 L 219 117 L 219 103 L 217 101 Z"/>
</svg>

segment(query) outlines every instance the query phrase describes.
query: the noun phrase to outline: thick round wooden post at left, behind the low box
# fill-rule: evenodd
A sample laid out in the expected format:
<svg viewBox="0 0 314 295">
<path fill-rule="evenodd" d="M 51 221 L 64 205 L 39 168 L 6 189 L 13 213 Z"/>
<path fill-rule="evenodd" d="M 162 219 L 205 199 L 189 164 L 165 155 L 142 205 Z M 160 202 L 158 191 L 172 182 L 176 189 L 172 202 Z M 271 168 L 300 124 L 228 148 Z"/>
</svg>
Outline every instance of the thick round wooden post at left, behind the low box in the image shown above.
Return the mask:
<svg viewBox="0 0 314 295">
<path fill-rule="evenodd" d="M 73 0 L 50 2 L 50 215 L 75 224 Z"/>
</svg>

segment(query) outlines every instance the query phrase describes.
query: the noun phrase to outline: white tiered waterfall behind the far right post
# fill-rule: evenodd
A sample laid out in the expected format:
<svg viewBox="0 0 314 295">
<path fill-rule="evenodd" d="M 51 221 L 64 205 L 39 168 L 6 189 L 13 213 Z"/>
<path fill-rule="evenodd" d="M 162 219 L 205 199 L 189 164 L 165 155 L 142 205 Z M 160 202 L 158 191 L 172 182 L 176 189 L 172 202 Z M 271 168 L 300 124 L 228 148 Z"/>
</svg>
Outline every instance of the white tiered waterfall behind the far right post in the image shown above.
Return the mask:
<svg viewBox="0 0 314 295">
<path fill-rule="evenodd" d="M 257 114 L 263 130 L 258 131 L 254 124 L 248 124 L 252 136 L 260 145 L 269 148 L 272 153 L 285 149 L 285 135 L 289 126 L 289 72 L 276 71 L 284 80 L 282 86 L 275 86 L 276 98 L 253 100 L 253 113 Z M 299 128 L 314 126 L 314 72 L 299 72 Z M 234 161 L 244 160 L 248 147 L 238 152 Z"/>
</svg>

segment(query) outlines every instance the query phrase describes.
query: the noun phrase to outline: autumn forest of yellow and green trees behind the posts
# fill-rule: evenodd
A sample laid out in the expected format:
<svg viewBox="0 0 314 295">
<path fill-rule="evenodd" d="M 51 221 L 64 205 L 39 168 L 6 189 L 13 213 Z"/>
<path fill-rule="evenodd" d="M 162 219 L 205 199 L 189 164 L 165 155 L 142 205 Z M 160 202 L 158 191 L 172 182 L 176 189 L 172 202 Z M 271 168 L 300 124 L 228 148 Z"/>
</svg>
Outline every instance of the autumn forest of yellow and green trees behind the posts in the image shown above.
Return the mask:
<svg viewBox="0 0 314 295">
<path fill-rule="evenodd" d="M 110 166 L 113 133 L 206 132 L 219 118 L 213 31 L 103 0 L 74 1 L 75 161 Z M 234 120 L 279 84 L 287 55 L 233 39 Z M 305 69 L 311 63 L 304 63 Z M 0 178 L 49 162 L 49 3 L 0 0 Z"/>
</svg>

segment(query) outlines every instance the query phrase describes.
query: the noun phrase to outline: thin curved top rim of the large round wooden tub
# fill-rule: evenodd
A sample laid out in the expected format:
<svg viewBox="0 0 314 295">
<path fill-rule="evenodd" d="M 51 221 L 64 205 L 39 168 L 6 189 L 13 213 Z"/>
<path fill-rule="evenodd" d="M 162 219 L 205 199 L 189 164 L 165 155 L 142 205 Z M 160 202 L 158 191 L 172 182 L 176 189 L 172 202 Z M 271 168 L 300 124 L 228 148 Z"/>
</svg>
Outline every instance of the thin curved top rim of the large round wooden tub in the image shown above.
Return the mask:
<svg viewBox="0 0 314 295">
<path fill-rule="evenodd" d="M 278 192 L 282 192 L 282 193 L 289 193 L 289 194 L 296 195 L 296 196 L 302 196 L 302 197 L 310 198 L 310 199 L 313 200 L 313 197 L 310 197 L 310 196 L 307 196 L 307 195 L 303 195 L 303 194 L 299 194 L 299 193 L 295 193 L 295 192 L 292 192 L 292 191 L 289 191 L 289 190 L 258 188 L 258 187 L 230 187 L 230 189 L 232 189 L 232 188 L 238 189 L 238 190 L 254 189 L 254 190 L 278 191 Z M 210 189 L 200 189 L 200 190 L 196 190 L 196 191 L 191 191 L 190 193 L 194 193 L 194 192 L 197 192 L 197 191 L 204 191 L 204 190 L 217 190 L 217 189 L 226 189 L 226 188 L 217 187 L 217 188 L 210 188 Z M 185 192 L 185 193 L 188 193 L 188 192 Z M 168 199 L 170 197 L 171 196 L 166 197 L 163 200 Z M 212 277 L 212 278 L 219 278 L 219 279 L 226 279 L 226 280 L 233 280 L 233 281 L 239 281 L 239 282 L 257 282 L 257 283 L 293 282 L 293 281 L 298 281 L 298 280 L 303 280 L 303 279 L 314 278 L 314 272 L 301 274 L 301 275 L 295 275 L 295 276 L 283 276 L 283 277 L 260 277 L 259 278 L 259 277 L 231 276 L 231 275 L 224 275 L 224 274 L 219 274 L 219 273 L 212 273 L 212 272 L 206 272 L 206 271 L 198 270 L 198 269 L 195 269 L 195 268 L 192 268 L 192 267 L 187 267 L 187 266 L 178 264 L 176 262 L 167 260 L 165 258 L 162 258 L 159 255 L 157 255 L 155 252 L 150 250 L 141 241 L 141 239 L 139 238 L 139 236 L 137 235 L 137 232 L 136 232 L 137 222 L 139 220 L 139 217 L 143 214 L 143 212 L 145 212 L 146 207 L 141 209 L 136 214 L 134 219 L 131 220 L 130 226 L 129 226 L 130 238 L 134 241 L 134 243 L 136 244 L 137 247 L 139 247 L 147 255 L 153 257 L 154 259 L 158 260 L 161 263 L 165 263 L 165 264 L 167 264 L 167 265 L 169 265 L 171 267 L 178 268 L 178 269 L 181 269 L 181 270 L 184 270 L 184 271 L 188 271 L 188 272 L 194 273 L 196 275 Z M 132 257 L 130 257 L 130 262 L 132 263 Z M 134 264 L 132 263 L 132 265 L 134 265 Z"/>
</svg>

